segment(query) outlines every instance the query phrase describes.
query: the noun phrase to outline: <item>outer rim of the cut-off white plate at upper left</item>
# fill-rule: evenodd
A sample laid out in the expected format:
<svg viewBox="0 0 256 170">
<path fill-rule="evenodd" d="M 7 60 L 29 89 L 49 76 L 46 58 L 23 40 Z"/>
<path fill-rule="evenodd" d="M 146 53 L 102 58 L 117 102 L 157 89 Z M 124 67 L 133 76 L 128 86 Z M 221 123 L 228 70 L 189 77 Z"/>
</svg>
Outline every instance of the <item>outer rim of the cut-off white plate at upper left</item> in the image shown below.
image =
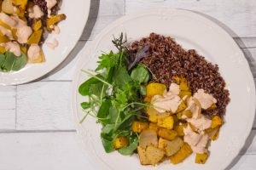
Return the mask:
<svg viewBox="0 0 256 170">
<path fill-rule="evenodd" d="M 84 0 L 82 0 L 84 1 Z M 0 82 L 0 86 L 15 86 L 15 85 L 21 85 L 21 84 L 26 84 L 29 82 L 33 82 L 33 81 L 37 81 L 38 79 L 44 77 L 45 75 L 49 74 L 51 71 L 54 71 L 58 66 L 60 66 L 66 59 L 67 57 L 72 53 L 73 48 L 75 48 L 75 46 L 78 44 L 80 37 L 82 36 L 83 32 L 84 32 L 84 28 L 89 20 L 89 14 L 90 14 L 90 2 L 91 0 L 85 0 L 85 5 L 84 5 L 84 22 L 83 25 L 81 26 L 81 30 L 76 34 L 76 37 L 74 38 L 75 41 L 72 45 L 69 46 L 70 50 L 67 53 L 67 55 L 61 59 L 59 59 L 59 61 L 57 62 L 56 65 L 54 65 L 51 69 L 49 69 L 49 71 L 45 71 L 42 74 L 38 74 L 37 76 L 30 76 L 27 77 L 26 79 L 20 79 L 19 81 L 15 80 L 13 82 Z M 46 39 L 47 40 L 47 39 Z M 19 72 L 19 71 L 17 71 Z M 0 72 L 1 73 L 1 72 Z M 8 72 L 3 72 L 3 74 L 8 74 Z M 1 76 L 1 75 L 0 75 Z"/>
</svg>

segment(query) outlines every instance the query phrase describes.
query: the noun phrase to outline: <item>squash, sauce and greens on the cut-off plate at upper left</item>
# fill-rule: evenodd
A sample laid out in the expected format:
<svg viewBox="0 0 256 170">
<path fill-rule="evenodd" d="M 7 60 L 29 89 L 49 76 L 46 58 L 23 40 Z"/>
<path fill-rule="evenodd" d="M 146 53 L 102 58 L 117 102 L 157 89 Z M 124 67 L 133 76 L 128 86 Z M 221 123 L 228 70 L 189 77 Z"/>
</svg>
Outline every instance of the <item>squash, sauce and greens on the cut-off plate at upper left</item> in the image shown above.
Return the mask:
<svg viewBox="0 0 256 170">
<path fill-rule="evenodd" d="M 57 14 L 61 0 L 0 0 L 0 71 L 19 71 L 27 63 L 45 61 L 42 45 L 49 33 L 66 20 Z M 57 40 L 47 42 L 56 48 Z"/>
</svg>

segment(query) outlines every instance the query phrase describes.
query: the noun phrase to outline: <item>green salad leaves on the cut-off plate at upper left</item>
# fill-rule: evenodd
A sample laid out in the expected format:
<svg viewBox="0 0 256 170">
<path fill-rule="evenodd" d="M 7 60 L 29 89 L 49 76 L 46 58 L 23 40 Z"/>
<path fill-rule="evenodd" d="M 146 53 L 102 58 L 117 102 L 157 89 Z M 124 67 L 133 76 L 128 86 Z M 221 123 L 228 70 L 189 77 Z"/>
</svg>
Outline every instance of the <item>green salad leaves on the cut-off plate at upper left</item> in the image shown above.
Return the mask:
<svg viewBox="0 0 256 170">
<path fill-rule="evenodd" d="M 26 62 L 25 54 L 21 54 L 20 57 L 15 56 L 11 52 L 0 54 L 0 71 L 20 71 L 26 65 Z"/>
</svg>

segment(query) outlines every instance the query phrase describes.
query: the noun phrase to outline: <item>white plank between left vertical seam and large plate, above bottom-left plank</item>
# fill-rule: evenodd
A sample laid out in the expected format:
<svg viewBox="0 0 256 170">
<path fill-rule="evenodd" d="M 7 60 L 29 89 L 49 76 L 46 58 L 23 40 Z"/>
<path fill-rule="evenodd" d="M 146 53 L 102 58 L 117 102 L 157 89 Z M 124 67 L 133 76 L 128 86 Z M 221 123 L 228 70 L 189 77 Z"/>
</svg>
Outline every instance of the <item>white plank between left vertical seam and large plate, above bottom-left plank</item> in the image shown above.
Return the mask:
<svg viewBox="0 0 256 170">
<path fill-rule="evenodd" d="M 17 130 L 74 129 L 71 82 L 34 82 L 17 88 Z"/>
</svg>

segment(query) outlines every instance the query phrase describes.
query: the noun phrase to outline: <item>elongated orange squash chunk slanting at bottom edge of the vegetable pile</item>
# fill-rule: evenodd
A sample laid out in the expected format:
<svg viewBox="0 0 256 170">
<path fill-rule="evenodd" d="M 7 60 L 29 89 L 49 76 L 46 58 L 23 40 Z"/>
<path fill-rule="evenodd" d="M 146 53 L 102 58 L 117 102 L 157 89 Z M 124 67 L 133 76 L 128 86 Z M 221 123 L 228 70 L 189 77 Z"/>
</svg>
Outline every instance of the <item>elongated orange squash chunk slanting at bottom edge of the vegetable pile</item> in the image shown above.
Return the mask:
<svg viewBox="0 0 256 170">
<path fill-rule="evenodd" d="M 173 156 L 171 156 L 171 162 L 177 164 L 182 162 L 185 158 L 190 156 L 193 153 L 193 150 L 190 148 L 189 144 L 184 143 L 180 150 Z"/>
</svg>

